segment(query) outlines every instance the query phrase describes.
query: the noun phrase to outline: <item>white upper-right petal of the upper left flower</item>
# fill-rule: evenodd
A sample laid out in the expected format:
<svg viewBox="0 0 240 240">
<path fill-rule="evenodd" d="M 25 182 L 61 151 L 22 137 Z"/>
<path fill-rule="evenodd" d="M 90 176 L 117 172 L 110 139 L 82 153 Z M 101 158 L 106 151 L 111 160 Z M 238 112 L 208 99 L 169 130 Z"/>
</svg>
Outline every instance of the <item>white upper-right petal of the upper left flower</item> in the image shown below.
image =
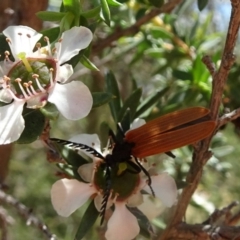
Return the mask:
<svg viewBox="0 0 240 240">
<path fill-rule="evenodd" d="M 62 42 L 57 45 L 60 47 L 58 61 L 61 65 L 77 55 L 81 49 L 88 47 L 92 41 L 92 32 L 86 27 L 73 27 L 62 34 Z"/>
</svg>

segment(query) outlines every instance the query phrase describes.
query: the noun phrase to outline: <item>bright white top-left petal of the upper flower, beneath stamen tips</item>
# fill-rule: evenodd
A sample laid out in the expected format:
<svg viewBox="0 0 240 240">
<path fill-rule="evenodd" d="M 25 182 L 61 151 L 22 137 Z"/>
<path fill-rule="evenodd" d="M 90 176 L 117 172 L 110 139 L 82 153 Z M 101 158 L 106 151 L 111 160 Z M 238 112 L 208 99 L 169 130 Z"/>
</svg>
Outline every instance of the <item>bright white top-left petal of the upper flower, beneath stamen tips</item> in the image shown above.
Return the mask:
<svg viewBox="0 0 240 240">
<path fill-rule="evenodd" d="M 27 26 L 10 26 L 3 34 L 11 40 L 9 46 L 15 60 L 21 52 L 25 52 L 27 56 L 32 54 L 37 41 L 42 37 L 42 34 Z"/>
</svg>

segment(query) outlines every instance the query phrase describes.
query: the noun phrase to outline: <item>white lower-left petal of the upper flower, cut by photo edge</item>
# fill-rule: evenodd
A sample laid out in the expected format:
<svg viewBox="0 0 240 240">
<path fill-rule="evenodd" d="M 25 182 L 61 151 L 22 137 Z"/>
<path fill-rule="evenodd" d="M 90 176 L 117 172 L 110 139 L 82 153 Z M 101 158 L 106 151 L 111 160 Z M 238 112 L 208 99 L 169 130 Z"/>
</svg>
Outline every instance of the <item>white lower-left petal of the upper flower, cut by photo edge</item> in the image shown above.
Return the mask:
<svg viewBox="0 0 240 240">
<path fill-rule="evenodd" d="M 0 107 L 0 145 L 16 141 L 22 134 L 25 124 L 22 117 L 24 101 L 14 101 Z"/>
</svg>

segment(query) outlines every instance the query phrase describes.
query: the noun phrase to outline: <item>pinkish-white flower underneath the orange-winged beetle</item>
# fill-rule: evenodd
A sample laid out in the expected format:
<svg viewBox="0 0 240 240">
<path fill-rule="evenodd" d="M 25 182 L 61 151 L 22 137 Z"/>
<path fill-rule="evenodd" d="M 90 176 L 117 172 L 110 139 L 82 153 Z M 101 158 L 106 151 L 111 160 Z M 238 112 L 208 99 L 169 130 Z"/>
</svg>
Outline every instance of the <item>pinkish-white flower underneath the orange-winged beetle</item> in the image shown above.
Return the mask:
<svg viewBox="0 0 240 240">
<path fill-rule="evenodd" d="M 71 141 L 73 140 L 77 143 L 88 144 L 88 146 L 91 146 L 92 148 L 95 148 L 96 146 L 98 151 L 100 149 L 100 141 L 96 134 L 78 135 L 71 139 Z M 102 192 L 99 190 L 99 186 L 97 186 L 98 182 L 95 174 L 95 172 L 98 172 L 99 170 L 96 170 L 96 167 L 94 168 L 93 166 L 99 165 L 101 161 L 102 160 L 94 158 L 93 163 L 84 164 L 79 167 L 78 172 L 80 176 L 84 179 L 84 181 L 88 181 L 90 183 L 82 183 L 73 179 L 61 179 L 53 185 L 51 190 L 51 199 L 53 207 L 59 215 L 68 217 L 94 194 L 97 196 L 94 199 L 95 206 L 98 210 L 100 209 L 102 196 L 99 198 L 99 195 L 102 194 Z M 138 225 L 137 218 L 126 206 L 136 207 L 142 203 L 143 198 L 140 190 L 144 189 L 145 191 L 151 193 L 146 179 L 141 178 L 141 175 L 142 174 L 126 172 L 123 174 L 123 177 L 119 177 L 124 188 L 127 188 L 127 185 L 131 185 L 132 182 L 135 183 L 132 189 L 130 189 L 130 192 L 127 194 L 124 190 L 118 191 L 118 186 L 113 187 L 113 185 L 116 184 L 112 184 L 112 193 L 109 196 L 107 208 L 109 208 L 113 203 L 115 209 L 107 224 L 107 231 L 105 234 L 107 240 L 131 240 L 139 234 L 140 227 Z M 151 176 L 151 180 L 151 186 L 155 192 L 155 196 L 167 207 L 171 207 L 175 204 L 177 199 L 177 187 L 173 178 L 167 173 L 163 173 Z M 111 181 L 117 182 L 114 178 L 112 178 Z M 124 196 L 121 195 L 122 193 L 120 193 L 120 191 L 123 192 Z"/>
</svg>

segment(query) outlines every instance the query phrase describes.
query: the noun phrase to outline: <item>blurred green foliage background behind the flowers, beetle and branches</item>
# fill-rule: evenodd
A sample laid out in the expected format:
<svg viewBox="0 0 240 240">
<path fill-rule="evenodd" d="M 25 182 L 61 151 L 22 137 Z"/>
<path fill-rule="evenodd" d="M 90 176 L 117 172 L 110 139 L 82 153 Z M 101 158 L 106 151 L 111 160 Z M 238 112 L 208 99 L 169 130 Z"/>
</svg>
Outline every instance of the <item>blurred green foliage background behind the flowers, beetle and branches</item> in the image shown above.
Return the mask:
<svg viewBox="0 0 240 240">
<path fill-rule="evenodd" d="M 57 22 L 58 25 L 54 25 L 54 28 L 42 31 L 51 41 L 56 41 L 66 29 L 83 25 L 94 32 L 94 42 L 97 44 L 118 29 L 120 31 L 132 26 L 148 11 L 159 8 L 166 2 L 64 0 L 60 12 L 40 12 L 37 15 L 44 21 Z M 211 76 L 201 59 L 207 54 L 216 66 L 219 65 L 226 31 L 218 31 L 214 14 L 220 9 L 216 4 L 213 11 L 210 2 L 183 1 L 170 14 L 154 17 L 142 25 L 137 34 L 119 38 L 97 56 L 94 56 L 94 52 L 91 53 L 90 46 L 71 59 L 69 63 L 76 68 L 81 63 L 89 69 L 79 78 L 93 92 L 94 109 L 87 118 L 80 121 L 67 121 L 61 116 L 57 121 L 52 121 L 51 136 L 67 139 L 79 133 L 98 133 L 104 147 L 109 127 L 116 130 L 117 122 L 121 122 L 124 130 L 127 130 L 136 117 L 150 120 L 181 108 L 208 107 Z M 2 37 L 0 35 L 0 40 Z M 6 48 L 6 45 L 0 45 L 0 52 Z M 240 106 L 239 64 L 237 61 L 231 70 L 223 98 L 223 108 L 230 110 Z M 42 111 L 44 116 L 53 114 L 51 119 L 56 119 L 55 109 L 49 109 Z M 240 128 L 238 124 L 235 123 L 235 126 Z M 191 202 L 187 213 L 189 222 L 202 222 L 215 207 L 240 198 L 239 129 L 237 130 L 228 124 L 214 137 L 214 156 L 208 162 L 202 182 Z M 59 169 L 45 161 L 43 149 L 44 146 L 39 141 L 31 145 L 15 145 L 7 179 L 8 192 L 33 208 L 34 213 L 59 239 L 73 239 L 88 204 L 69 218 L 56 214 L 49 192 L 51 185 L 58 179 L 54 173 Z M 177 182 L 183 182 L 189 170 L 191 152 L 191 147 L 184 147 L 174 151 L 177 156 L 175 160 L 165 155 L 149 159 L 152 163 L 157 163 L 160 171 L 167 171 Z M 10 239 L 43 239 L 38 230 L 25 225 L 14 209 L 8 209 L 16 219 L 14 225 L 9 227 L 13 230 L 9 231 Z M 153 223 L 156 229 L 162 228 L 164 218 L 160 216 Z M 89 232 L 85 239 L 98 239 L 96 234 L 103 231 L 97 221 L 95 230 Z"/>
</svg>

